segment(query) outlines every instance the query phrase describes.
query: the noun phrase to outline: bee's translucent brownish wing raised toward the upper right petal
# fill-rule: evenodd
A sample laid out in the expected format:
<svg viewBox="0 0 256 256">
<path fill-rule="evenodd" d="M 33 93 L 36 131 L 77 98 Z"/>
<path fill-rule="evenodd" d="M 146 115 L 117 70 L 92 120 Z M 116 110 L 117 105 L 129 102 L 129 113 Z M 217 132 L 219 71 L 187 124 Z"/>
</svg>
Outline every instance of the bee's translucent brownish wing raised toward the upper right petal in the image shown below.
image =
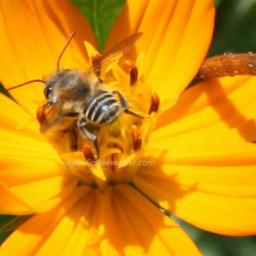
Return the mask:
<svg viewBox="0 0 256 256">
<path fill-rule="evenodd" d="M 104 54 L 104 56 L 102 56 L 99 60 L 95 61 L 93 66 L 89 68 L 88 71 L 95 72 L 95 70 L 100 70 L 101 67 L 104 67 L 109 63 L 120 60 L 124 52 L 131 51 L 132 46 L 141 35 L 142 33 L 136 33 L 128 38 L 125 38 L 124 41 L 120 42 L 120 44 L 116 45 L 113 49 Z"/>
</svg>

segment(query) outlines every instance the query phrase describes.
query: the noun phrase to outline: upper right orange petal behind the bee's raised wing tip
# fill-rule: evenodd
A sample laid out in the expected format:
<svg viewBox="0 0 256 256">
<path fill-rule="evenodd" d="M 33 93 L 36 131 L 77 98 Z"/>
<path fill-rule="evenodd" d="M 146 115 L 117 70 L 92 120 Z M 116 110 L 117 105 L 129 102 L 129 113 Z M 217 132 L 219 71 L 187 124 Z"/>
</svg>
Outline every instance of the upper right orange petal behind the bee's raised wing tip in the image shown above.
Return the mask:
<svg viewBox="0 0 256 256">
<path fill-rule="evenodd" d="M 179 95 L 195 76 L 211 42 L 213 26 L 212 0 L 129 0 L 105 51 L 128 35 L 142 32 L 136 51 L 145 52 L 143 81 L 152 83 L 164 100 Z"/>
</svg>

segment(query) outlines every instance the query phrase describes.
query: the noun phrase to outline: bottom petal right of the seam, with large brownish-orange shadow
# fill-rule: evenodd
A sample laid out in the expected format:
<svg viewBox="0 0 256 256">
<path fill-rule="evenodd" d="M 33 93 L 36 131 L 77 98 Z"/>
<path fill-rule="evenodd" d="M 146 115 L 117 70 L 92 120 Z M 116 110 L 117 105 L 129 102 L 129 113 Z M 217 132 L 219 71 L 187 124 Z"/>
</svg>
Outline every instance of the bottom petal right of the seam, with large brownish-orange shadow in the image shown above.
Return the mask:
<svg viewBox="0 0 256 256">
<path fill-rule="evenodd" d="M 201 255 L 177 223 L 127 185 L 105 191 L 100 223 L 102 255 Z"/>
</svg>

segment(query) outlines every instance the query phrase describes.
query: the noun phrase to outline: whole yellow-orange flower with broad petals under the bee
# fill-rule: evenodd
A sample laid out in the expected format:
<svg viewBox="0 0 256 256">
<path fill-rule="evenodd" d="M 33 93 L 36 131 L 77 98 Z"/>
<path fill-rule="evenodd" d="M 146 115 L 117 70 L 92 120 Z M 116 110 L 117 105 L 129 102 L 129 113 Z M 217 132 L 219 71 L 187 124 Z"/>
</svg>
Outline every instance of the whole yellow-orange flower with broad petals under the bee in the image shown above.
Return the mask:
<svg viewBox="0 0 256 256">
<path fill-rule="evenodd" d="M 6 88 L 56 71 L 72 31 L 61 68 L 90 67 L 88 53 L 97 44 L 68 1 L 1 0 L 0 12 Z M 147 116 L 152 95 L 160 106 L 148 120 L 123 113 L 93 130 L 99 160 L 116 159 L 115 166 L 68 165 L 86 162 L 83 140 L 73 152 L 69 131 L 40 134 L 35 115 L 45 102 L 42 84 L 10 91 L 18 104 L 0 95 L 0 212 L 35 214 L 0 255 L 200 255 L 159 207 L 218 234 L 256 233 L 256 79 L 225 77 L 185 90 L 204 60 L 213 24 L 210 0 L 127 1 L 104 52 L 142 32 L 127 56 L 136 61 L 138 83 L 130 86 L 127 70 L 116 63 L 102 79 L 140 115 Z"/>
</svg>

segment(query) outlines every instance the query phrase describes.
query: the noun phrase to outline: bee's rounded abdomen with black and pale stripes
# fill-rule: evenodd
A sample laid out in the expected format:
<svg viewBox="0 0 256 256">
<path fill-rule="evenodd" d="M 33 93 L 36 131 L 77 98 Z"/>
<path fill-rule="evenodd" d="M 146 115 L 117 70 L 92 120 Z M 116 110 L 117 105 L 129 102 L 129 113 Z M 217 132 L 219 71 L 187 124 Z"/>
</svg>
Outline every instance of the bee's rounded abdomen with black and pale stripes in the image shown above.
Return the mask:
<svg viewBox="0 0 256 256">
<path fill-rule="evenodd" d="M 120 111 L 120 104 L 111 92 L 98 91 L 87 100 L 84 117 L 95 124 L 111 124 Z"/>
</svg>

